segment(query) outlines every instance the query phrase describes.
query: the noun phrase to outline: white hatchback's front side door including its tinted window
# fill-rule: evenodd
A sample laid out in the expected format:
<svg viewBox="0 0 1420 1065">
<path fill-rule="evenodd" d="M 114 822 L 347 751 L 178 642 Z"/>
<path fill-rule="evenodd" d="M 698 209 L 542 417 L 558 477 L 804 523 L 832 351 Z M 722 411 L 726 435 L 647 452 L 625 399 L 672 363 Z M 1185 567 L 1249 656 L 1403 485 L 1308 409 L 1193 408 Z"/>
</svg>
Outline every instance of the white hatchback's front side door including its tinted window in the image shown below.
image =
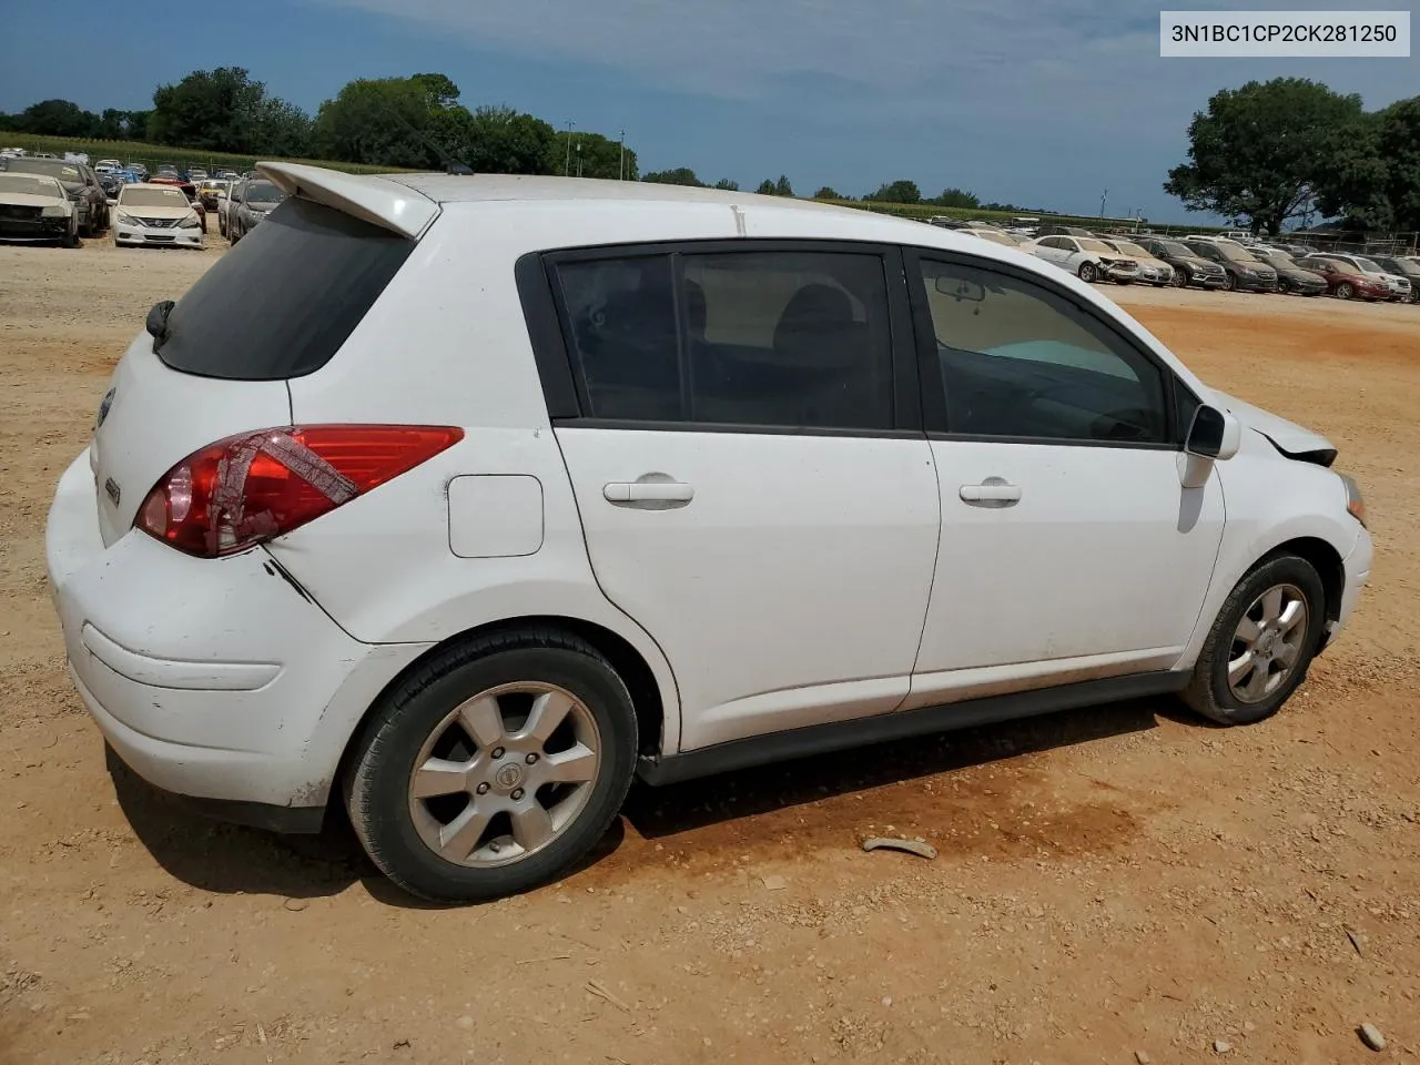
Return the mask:
<svg viewBox="0 0 1420 1065">
<path fill-rule="evenodd" d="M 905 707 L 1169 670 L 1223 535 L 1197 399 L 1045 278 L 909 254 L 941 545 Z"/>
</svg>

